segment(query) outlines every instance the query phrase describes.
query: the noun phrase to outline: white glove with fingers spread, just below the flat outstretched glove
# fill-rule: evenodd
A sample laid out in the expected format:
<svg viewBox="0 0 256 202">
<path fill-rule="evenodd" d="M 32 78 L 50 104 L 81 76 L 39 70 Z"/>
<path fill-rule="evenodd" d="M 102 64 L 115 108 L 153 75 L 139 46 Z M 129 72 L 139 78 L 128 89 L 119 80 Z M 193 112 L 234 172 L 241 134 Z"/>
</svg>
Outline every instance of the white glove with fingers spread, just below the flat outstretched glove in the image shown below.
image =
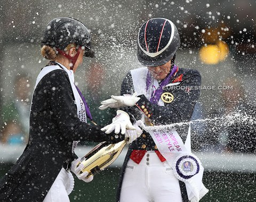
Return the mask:
<svg viewBox="0 0 256 202">
<path fill-rule="evenodd" d="M 113 118 L 112 123 L 102 128 L 102 131 L 106 131 L 106 133 L 109 134 L 110 132 L 115 130 L 115 133 L 118 134 L 121 129 L 121 133 L 124 134 L 126 129 L 136 130 L 136 128 L 132 125 L 130 121 L 129 114 L 122 110 L 117 110 L 116 114 L 117 115 Z"/>
</svg>

